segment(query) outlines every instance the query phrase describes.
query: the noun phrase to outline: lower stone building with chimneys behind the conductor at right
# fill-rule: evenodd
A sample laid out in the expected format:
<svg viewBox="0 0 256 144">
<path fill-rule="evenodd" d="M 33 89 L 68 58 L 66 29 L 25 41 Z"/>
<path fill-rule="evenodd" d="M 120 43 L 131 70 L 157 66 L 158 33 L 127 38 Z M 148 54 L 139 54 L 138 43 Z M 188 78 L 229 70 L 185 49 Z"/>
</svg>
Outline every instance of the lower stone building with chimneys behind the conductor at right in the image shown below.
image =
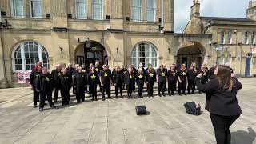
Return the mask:
<svg viewBox="0 0 256 144">
<path fill-rule="evenodd" d="M 202 17 L 200 3 L 191 6 L 191 18 L 184 34 L 212 34 L 210 46 L 218 64 L 228 64 L 234 73 L 250 77 L 256 74 L 255 47 L 256 2 L 249 2 L 246 18 Z"/>
</svg>

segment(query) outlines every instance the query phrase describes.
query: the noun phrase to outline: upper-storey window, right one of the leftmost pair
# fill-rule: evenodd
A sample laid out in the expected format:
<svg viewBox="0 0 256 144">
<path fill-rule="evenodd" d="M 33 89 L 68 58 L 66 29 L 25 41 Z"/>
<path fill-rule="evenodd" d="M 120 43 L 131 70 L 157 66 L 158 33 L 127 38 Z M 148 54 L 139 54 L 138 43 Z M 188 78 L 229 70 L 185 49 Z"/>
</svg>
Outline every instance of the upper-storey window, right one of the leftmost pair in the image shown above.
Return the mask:
<svg viewBox="0 0 256 144">
<path fill-rule="evenodd" d="M 30 0 L 31 17 L 42 18 L 42 0 Z"/>
</svg>

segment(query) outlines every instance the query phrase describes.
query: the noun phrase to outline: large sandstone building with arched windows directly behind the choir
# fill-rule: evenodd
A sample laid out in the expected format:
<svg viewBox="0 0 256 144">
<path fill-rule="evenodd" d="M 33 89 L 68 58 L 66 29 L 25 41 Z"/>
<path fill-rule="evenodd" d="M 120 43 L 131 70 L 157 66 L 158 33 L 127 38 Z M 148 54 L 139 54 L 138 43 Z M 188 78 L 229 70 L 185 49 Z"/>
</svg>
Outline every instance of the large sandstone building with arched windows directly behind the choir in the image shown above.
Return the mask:
<svg viewBox="0 0 256 144">
<path fill-rule="evenodd" d="M 211 34 L 174 33 L 174 0 L 0 0 L 0 10 L 0 87 L 19 86 L 18 72 L 37 61 L 53 70 L 96 60 L 111 69 L 210 66 L 214 58 Z"/>
</svg>

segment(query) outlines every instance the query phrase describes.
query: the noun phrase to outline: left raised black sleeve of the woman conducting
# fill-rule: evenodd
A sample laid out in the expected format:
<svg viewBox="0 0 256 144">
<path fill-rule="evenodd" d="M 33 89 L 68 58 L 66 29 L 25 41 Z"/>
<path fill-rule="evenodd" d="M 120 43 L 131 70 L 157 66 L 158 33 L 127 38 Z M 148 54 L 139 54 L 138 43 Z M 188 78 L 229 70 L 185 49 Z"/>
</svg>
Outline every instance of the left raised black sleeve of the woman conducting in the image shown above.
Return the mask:
<svg viewBox="0 0 256 144">
<path fill-rule="evenodd" d="M 204 93 L 213 92 L 218 90 L 218 82 L 216 79 L 212 79 L 206 84 L 201 83 L 202 78 L 195 78 L 195 85 L 197 86 L 198 90 L 201 90 Z"/>
</svg>

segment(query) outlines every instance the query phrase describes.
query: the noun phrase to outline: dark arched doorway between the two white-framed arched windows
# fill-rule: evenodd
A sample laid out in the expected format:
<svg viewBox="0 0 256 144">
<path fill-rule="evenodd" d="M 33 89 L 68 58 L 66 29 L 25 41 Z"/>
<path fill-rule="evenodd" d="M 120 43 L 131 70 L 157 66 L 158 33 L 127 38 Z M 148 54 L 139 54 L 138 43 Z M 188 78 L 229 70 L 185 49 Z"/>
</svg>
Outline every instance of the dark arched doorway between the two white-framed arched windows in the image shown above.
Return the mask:
<svg viewBox="0 0 256 144">
<path fill-rule="evenodd" d="M 74 52 L 75 63 L 80 66 L 85 64 L 99 62 L 100 66 L 108 64 L 108 55 L 106 49 L 100 42 L 90 40 L 90 47 L 86 46 L 86 42 L 81 42 Z"/>
</svg>

